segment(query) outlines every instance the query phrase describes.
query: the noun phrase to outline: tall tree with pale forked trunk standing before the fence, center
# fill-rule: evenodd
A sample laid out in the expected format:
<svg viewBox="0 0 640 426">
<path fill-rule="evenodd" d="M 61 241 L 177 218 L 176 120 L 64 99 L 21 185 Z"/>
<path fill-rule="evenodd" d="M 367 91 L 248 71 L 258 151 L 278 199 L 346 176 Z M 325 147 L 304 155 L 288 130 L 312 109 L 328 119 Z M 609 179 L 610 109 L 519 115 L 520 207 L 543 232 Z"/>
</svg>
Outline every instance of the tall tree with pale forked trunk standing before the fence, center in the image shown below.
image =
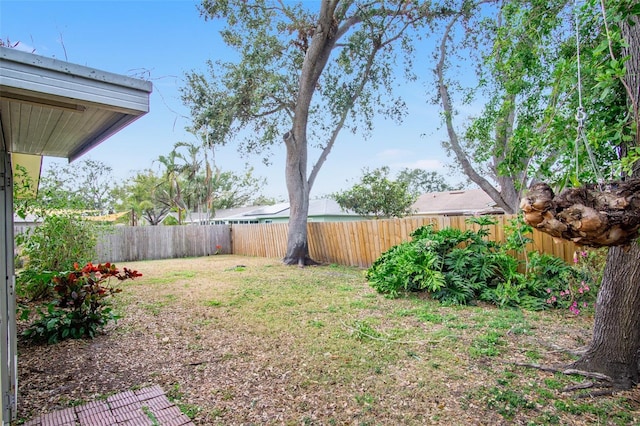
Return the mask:
<svg viewBox="0 0 640 426">
<path fill-rule="evenodd" d="M 209 77 L 188 75 L 183 97 L 193 128 L 206 129 L 210 143 L 240 134 L 241 151 L 260 152 L 284 142 L 291 206 L 287 264 L 312 262 L 309 193 L 339 133 L 371 130 L 377 113 L 402 115 L 404 105 L 392 94 L 401 63 L 396 50 L 410 53 L 412 37 L 419 36 L 413 30 L 448 13 L 421 1 L 322 0 L 319 6 L 204 0 L 202 15 L 226 22 L 222 37 L 239 59 L 210 63 Z M 410 55 L 405 65 L 410 69 Z M 310 147 L 318 157 L 308 173 Z"/>
</svg>

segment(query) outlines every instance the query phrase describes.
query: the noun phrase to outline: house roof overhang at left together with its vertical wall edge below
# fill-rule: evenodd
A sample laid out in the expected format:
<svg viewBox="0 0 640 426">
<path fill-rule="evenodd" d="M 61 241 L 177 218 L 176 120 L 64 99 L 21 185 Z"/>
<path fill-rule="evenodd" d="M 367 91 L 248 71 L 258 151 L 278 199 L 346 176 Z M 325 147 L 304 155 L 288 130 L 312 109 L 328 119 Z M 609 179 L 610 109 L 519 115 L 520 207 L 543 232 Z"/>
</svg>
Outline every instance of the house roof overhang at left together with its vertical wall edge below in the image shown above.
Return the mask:
<svg viewBox="0 0 640 426">
<path fill-rule="evenodd" d="M 13 172 L 42 156 L 73 160 L 149 111 L 151 83 L 0 47 L 0 423 L 17 413 Z M 9 156 L 11 155 L 11 161 Z M 32 165 L 33 166 L 33 165 Z M 32 168 L 39 174 L 40 165 Z M 37 182 L 37 178 L 30 176 Z M 36 183 L 34 182 L 34 183 Z M 35 185 L 37 187 L 37 183 Z"/>
</svg>

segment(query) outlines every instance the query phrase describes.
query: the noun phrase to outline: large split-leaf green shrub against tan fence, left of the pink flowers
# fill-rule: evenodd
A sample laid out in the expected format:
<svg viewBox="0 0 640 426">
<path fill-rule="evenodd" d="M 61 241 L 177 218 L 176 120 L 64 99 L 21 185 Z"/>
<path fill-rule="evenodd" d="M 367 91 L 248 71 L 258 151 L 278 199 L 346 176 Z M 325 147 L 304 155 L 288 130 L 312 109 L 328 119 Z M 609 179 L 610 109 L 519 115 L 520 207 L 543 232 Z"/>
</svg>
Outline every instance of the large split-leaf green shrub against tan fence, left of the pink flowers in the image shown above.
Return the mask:
<svg viewBox="0 0 640 426">
<path fill-rule="evenodd" d="M 478 231 L 435 231 L 431 225 L 416 229 L 412 241 L 392 247 L 373 263 L 366 273 L 369 283 L 389 297 L 426 290 L 445 304 L 478 298 L 511 304 L 521 287 L 518 262 L 486 239 L 486 226 L 493 222 L 472 221 L 480 225 Z"/>
</svg>

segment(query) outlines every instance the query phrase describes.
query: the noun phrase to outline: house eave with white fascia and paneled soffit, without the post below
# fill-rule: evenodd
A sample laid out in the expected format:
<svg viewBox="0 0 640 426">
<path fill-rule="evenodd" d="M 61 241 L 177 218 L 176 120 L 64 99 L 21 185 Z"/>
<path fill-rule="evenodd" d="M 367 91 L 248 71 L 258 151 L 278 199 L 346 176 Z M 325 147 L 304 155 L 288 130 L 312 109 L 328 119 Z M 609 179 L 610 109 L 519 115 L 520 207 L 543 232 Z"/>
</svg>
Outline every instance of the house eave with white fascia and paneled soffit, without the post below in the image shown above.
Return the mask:
<svg viewBox="0 0 640 426">
<path fill-rule="evenodd" d="M 0 147 L 74 160 L 149 111 L 152 85 L 0 47 Z"/>
</svg>

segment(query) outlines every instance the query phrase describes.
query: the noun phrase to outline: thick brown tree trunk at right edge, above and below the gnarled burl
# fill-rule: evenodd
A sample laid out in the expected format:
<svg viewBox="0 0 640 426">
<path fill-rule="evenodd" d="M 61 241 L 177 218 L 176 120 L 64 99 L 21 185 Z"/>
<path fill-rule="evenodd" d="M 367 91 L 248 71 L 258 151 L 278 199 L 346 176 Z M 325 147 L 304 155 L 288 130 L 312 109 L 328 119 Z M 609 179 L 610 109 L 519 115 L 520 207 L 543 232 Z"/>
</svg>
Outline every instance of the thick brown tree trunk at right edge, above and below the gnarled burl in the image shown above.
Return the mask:
<svg viewBox="0 0 640 426">
<path fill-rule="evenodd" d="M 640 19 L 635 25 L 621 22 L 623 38 L 628 47 L 622 55 L 629 55 L 626 63 L 625 86 L 630 106 L 634 110 L 636 126 L 638 97 L 640 97 Z M 640 128 L 640 127 L 636 127 Z M 640 132 L 636 134 L 640 145 Z M 634 177 L 640 177 L 635 168 Z M 593 327 L 593 341 L 586 353 L 574 363 L 580 370 L 603 373 L 611 377 L 614 386 L 630 388 L 640 383 L 640 246 L 612 247 L 600 286 Z"/>
</svg>

